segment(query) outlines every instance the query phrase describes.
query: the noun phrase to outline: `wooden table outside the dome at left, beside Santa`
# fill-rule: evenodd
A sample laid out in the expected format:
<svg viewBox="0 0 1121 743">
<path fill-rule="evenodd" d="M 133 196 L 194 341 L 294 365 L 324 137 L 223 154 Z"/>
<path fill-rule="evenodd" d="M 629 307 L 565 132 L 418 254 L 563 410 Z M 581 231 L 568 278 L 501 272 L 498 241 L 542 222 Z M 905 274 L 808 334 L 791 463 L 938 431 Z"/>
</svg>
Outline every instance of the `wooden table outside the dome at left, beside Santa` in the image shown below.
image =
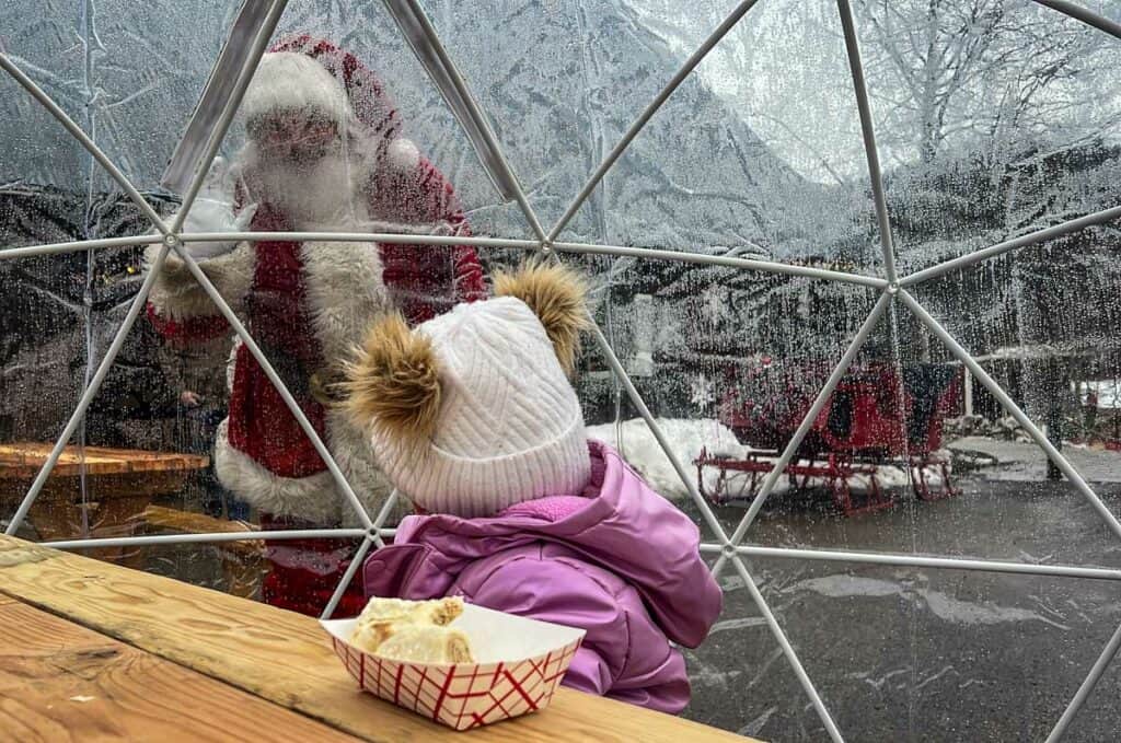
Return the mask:
<svg viewBox="0 0 1121 743">
<path fill-rule="evenodd" d="M 52 444 L 39 443 L 0 445 L 0 512 L 19 505 L 52 448 Z M 126 537 L 142 523 L 139 517 L 152 498 L 179 492 L 192 472 L 209 464 L 207 457 L 191 454 L 98 446 L 80 453 L 77 447 L 67 446 L 28 512 L 28 520 L 43 540 Z M 91 554 L 121 559 L 126 548 Z"/>
</svg>

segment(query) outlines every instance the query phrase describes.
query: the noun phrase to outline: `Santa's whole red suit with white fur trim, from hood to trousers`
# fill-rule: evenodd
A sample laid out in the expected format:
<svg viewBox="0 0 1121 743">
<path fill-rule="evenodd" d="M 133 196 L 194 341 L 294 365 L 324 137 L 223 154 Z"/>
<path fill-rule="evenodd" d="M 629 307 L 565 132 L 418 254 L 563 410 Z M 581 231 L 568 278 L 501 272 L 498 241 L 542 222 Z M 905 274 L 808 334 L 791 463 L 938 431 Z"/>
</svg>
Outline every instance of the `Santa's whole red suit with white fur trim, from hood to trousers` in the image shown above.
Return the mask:
<svg viewBox="0 0 1121 743">
<path fill-rule="evenodd" d="M 380 137 L 378 156 L 388 159 L 397 112 L 368 69 L 330 44 L 307 37 L 284 41 L 274 50 L 303 50 L 342 76 L 360 118 Z M 376 167 L 370 178 L 365 191 L 371 195 L 371 219 L 443 223 L 453 234 L 470 235 L 451 184 L 424 158 L 409 168 Z M 266 203 L 258 205 L 250 229 L 281 232 L 293 231 L 294 225 Z M 483 298 L 485 284 L 475 251 L 465 245 L 267 241 L 243 243 L 233 253 L 203 261 L 202 268 L 289 382 L 296 402 L 355 492 L 376 507 L 388 484 L 378 481 L 372 453 L 363 451 L 369 449 L 367 439 L 346 430 L 337 414 L 312 396 L 307 377 L 341 361 L 346 349 L 361 343 L 377 314 L 390 306 L 416 324 L 457 303 Z M 148 316 L 174 343 L 231 333 L 174 257 L 154 286 Z M 223 484 L 258 509 L 265 529 L 335 526 L 352 516 L 311 439 L 245 346 L 237 345 L 228 373 L 229 418 L 215 445 Z M 353 547 L 350 540 L 268 540 L 271 569 L 262 597 L 318 614 Z M 349 591 L 339 614 L 356 613 L 361 601 L 360 589 Z"/>
</svg>

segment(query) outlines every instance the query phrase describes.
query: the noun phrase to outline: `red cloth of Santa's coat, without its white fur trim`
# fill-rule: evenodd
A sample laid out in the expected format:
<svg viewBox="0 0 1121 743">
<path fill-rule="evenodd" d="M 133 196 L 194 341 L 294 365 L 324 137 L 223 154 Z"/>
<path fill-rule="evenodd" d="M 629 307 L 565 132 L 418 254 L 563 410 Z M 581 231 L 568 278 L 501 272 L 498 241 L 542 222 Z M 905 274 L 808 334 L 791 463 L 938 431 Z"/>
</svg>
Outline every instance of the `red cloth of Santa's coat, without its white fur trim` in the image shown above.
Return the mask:
<svg viewBox="0 0 1121 743">
<path fill-rule="evenodd" d="M 402 223 L 446 222 L 461 235 L 469 235 L 462 208 L 455 202 L 452 187 L 428 161 L 417 166 L 420 177 L 408 174 L 387 176 L 378 188 L 379 203 L 371 211 L 379 217 Z M 253 217 L 254 232 L 291 231 L 282 214 L 261 205 Z M 324 360 L 316 334 L 309 322 L 306 272 L 300 256 L 302 244 L 276 241 L 258 242 L 253 247 L 253 278 L 248 294 L 248 317 L 253 338 L 269 349 L 288 354 L 308 369 L 322 368 Z M 370 247 L 370 249 L 374 249 Z M 381 277 L 369 277 L 385 285 L 395 305 L 411 324 L 423 323 L 444 313 L 457 303 L 474 301 L 485 296 L 482 268 L 474 249 L 465 245 L 420 245 L 386 243 L 379 252 Z M 151 304 L 148 315 L 163 335 L 176 343 L 192 343 L 230 333 L 220 314 L 172 319 Z M 355 343 L 360 337 L 353 338 Z M 304 435 L 288 406 L 280 398 L 252 357 L 249 349 L 239 346 L 230 391 L 230 444 L 254 462 L 284 477 L 305 477 L 323 472 L 326 465 Z M 323 406 L 311 397 L 300 400 L 300 408 L 315 427 L 325 435 Z"/>
</svg>

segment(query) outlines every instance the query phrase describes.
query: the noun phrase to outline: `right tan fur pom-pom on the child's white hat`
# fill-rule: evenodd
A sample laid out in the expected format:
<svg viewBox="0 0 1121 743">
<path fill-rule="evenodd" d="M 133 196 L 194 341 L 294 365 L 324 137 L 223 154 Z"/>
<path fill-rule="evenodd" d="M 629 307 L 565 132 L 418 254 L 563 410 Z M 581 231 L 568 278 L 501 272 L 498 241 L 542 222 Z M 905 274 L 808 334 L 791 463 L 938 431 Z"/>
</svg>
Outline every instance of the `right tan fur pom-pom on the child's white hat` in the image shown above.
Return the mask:
<svg viewBox="0 0 1121 743">
<path fill-rule="evenodd" d="M 545 326 L 560 366 L 572 374 L 580 351 L 580 334 L 591 326 L 584 279 L 558 263 L 531 261 L 513 273 L 497 272 L 494 294 L 516 297 L 529 305 Z"/>
</svg>

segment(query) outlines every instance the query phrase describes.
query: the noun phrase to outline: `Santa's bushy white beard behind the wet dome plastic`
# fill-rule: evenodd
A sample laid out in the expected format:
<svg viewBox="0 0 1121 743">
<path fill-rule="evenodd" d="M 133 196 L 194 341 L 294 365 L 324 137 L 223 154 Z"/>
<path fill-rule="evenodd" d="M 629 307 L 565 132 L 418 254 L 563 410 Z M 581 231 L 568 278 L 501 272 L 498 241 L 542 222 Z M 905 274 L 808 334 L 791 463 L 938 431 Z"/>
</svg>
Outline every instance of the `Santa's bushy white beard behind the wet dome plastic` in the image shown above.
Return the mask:
<svg viewBox="0 0 1121 743">
<path fill-rule="evenodd" d="M 358 160 L 356 162 L 354 160 Z M 247 203 L 267 203 L 294 230 L 358 229 L 368 221 L 363 185 L 369 166 L 330 152 L 311 161 L 270 157 L 252 143 L 242 156 Z"/>
</svg>

